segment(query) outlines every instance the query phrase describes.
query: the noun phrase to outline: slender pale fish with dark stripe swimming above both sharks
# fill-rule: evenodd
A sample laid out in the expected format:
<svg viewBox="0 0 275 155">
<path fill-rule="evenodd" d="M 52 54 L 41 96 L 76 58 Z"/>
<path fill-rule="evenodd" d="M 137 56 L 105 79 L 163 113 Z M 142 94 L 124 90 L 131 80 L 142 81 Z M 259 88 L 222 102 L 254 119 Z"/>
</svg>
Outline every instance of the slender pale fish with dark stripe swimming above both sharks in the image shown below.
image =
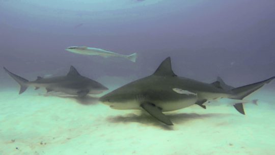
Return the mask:
<svg viewBox="0 0 275 155">
<path fill-rule="evenodd" d="M 72 47 L 67 47 L 65 50 L 70 51 L 72 53 L 81 54 L 81 55 L 96 55 L 96 56 L 102 56 L 102 57 L 122 57 L 132 62 L 135 62 L 135 59 L 136 59 L 136 53 L 126 56 L 126 55 L 114 53 L 113 51 L 110 51 L 107 49 L 87 47 L 87 46 L 72 46 Z"/>
</svg>

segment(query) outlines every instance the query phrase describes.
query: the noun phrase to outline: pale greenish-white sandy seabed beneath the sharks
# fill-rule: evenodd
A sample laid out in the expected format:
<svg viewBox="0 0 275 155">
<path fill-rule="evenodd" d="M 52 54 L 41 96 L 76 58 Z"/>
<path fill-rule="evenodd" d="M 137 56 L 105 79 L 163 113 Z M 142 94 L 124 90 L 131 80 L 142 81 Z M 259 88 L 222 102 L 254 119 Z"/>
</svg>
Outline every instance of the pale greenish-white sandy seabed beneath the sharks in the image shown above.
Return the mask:
<svg viewBox="0 0 275 155">
<path fill-rule="evenodd" d="M 0 90 L 0 154 L 274 154 L 275 96 L 263 88 L 246 115 L 223 103 L 167 113 L 167 126 L 146 113 L 113 110 L 95 98 Z M 92 102 L 90 102 L 92 101 Z M 17 148 L 17 149 L 16 149 Z"/>
</svg>

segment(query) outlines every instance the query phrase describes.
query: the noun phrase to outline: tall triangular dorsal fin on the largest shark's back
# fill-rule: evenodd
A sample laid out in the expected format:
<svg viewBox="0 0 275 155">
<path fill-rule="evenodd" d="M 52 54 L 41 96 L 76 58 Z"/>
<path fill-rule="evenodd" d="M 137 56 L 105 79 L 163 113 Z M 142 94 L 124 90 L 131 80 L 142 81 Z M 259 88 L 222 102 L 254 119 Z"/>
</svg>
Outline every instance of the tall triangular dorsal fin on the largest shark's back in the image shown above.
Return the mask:
<svg viewBox="0 0 275 155">
<path fill-rule="evenodd" d="M 171 58 L 168 57 L 158 66 L 157 70 L 154 72 L 153 75 L 159 76 L 177 76 L 171 66 Z"/>
</svg>

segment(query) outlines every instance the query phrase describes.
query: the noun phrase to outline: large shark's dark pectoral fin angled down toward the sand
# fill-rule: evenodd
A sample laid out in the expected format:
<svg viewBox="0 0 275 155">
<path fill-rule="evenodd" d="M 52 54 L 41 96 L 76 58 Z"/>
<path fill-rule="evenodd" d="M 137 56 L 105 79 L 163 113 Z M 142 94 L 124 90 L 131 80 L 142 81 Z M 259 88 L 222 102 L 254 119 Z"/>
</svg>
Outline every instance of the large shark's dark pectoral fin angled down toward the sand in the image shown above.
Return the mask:
<svg viewBox="0 0 275 155">
<path fill-rule="evenodd" d="M 161 112 L 159 107 L 156 107 L 154 104 L 150 102 L 143 102 L 141 104 L 141 107 L 162 123 L 167 125 L 173 125 L 171 120 Z"/>
</svg>

